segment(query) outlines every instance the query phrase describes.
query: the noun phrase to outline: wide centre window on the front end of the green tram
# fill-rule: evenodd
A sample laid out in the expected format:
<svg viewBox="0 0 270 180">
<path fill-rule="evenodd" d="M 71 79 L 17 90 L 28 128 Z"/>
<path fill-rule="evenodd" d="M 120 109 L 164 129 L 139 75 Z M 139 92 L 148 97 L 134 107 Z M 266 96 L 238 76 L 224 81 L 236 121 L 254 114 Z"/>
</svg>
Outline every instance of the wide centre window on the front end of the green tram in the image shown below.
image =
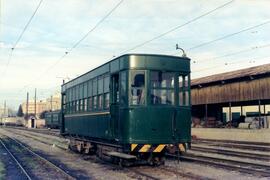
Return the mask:
<svg viewBox="0 0 270 180">
<path fill-rule="evenodd" d="M 173 72 L 151 71 L 151 104 L 174 105 Z"/>
</svg>

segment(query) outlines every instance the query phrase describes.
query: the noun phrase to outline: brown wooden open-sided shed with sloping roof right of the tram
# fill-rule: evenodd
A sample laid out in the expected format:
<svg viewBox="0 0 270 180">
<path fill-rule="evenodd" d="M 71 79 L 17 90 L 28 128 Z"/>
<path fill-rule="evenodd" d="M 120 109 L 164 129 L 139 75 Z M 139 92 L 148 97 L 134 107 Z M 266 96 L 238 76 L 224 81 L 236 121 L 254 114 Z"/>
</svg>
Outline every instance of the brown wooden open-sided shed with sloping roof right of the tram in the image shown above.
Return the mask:
<svg viewBox="0 0 270 180">
<path fill-rule="evenodd" d="M 253 117 L 269 127 L 270 64 L 194 79 L 191 96 L 195 124 L 224 127 Z"/>
</svg>

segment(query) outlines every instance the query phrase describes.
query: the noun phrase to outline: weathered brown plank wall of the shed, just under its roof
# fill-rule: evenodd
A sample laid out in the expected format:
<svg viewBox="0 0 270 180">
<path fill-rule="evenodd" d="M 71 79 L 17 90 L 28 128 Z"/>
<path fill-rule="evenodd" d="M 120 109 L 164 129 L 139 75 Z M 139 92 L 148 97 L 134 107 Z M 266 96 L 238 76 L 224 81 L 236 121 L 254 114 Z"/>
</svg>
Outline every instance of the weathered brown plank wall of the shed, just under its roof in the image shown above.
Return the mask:
<svg viewBox="0 0 270 180">
<path fill-rule="evenodd" d="M 270 99 L 270 77 L 192 88 L 192 105 Z"/>
</svg>

